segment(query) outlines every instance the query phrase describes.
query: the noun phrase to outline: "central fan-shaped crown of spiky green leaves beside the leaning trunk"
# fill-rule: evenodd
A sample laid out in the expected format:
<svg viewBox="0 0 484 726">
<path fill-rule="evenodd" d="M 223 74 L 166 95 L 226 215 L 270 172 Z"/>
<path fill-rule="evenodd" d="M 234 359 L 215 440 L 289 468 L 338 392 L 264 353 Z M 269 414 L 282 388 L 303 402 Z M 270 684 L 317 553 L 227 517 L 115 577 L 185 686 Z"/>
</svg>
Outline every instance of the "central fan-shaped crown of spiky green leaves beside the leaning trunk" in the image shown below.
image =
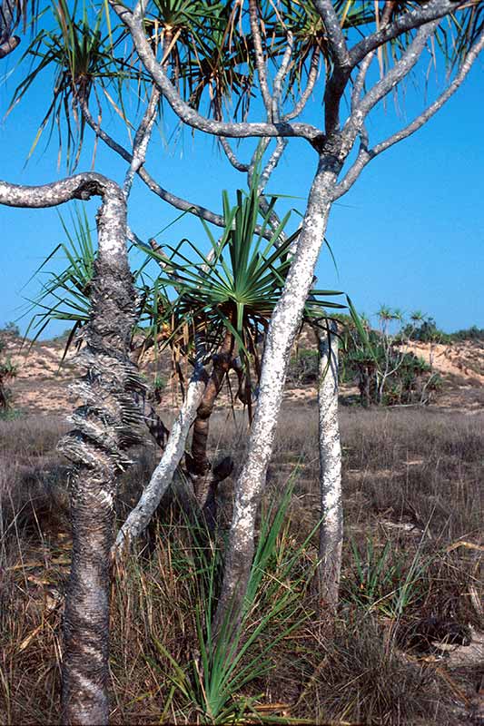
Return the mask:
<svg viewBox="0 0 484 726">
<path fill-rule="evenodd" d="M 195 336 L 202 338 L 207 356 L 222 344 L 227 331 L 232 333 L 242 365 L 260 372 L 260 346 L 268 329 L 272 313 L 281 298 L 291 266 L 291 244 L 299 230 L 282 239 L 289 213 L 265 239 L 271 229 L 270 220 L 276 198 L 269 210 L 259 206 L 257 180 L 248 193 L 237 191 L 237 203 L 231 207 L 227 192 L 223 192 L 223 211 L 226 226 L 216 240 L 208 225 L 203 223 L 210 242 L 210 253 L 204 255 L 200 245 L 182 240 L 176 246 L 165 246 L 164 252 L 146 250 L 150 257 L 163 264 L 165 273 L 159 278 L 176 292 L 173 311 Z M 311 301 L 305 309 L 306 318 L 322 316 L 325 308 L 345 306 L 323 299 L 341 295 L 336 290 L 312 290 Z M 174 329 L 180 326 L 174 325 Z M 173 338 L 172 338 L 173 339 Z M 167 340 L 167 343 L 171 340 Z M 188 352 L 188 348 L 185 349 Z"/>
</svg>

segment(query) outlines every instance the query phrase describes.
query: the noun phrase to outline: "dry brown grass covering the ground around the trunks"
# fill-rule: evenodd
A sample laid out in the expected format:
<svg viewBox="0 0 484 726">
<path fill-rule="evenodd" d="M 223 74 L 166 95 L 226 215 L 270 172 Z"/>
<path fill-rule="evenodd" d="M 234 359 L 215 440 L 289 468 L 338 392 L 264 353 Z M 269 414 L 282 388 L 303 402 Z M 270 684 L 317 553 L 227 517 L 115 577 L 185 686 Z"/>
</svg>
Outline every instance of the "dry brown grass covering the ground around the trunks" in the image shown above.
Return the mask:
<svg viewBox="0 0 484 726">
<path fill-rule="evenodd" d="M 267 715 L 382 724 L 466 720 L 481 664 L 452 669 L 435 653 L 405 652 L 395 633 L 430 615 L 484 626 L 483 423 L 479 415 L 420 409 L 341 411 L 346 542 L 339 618 L 328 632 L 321 614 L 313 614 L 279 643 L 275 669 L 248 690 L 263 694 L 258 702 Z M 66 469 L 55 453 L 63 430 L 54 417 L 0 422 L 0 723 L 58 718 L 69 554 Z M 230 452 L 240 466 L 245 433 L 241 419 L 229 426 L 225 415 L 217 417 L 215 456 Z M 155 458 L 153 448 L 139 452 L 123 482 L 120 518 Z M 282 491 L 295 467 L 284 535 L 294 547 L 318 517 L 312 406 L 283 412 L 269 494 Z M 224 521 L 231 500 L 229 481 L 221 492 Z M 199 647 L 197 566 L 190 564 L 186 523 L 176 506 L 160 512 L 146 544 L 114 576 L 112 721 L 203 721 L 193 699 L 173 685 L 173 663 L 153 644 L 163 643 L 187 672 Z M 304 566 L 314 558 L 310 543 Z M 301 590 L 300 597 L 301 609 L 311 613 L 310 592 Z M 263 640 L 280 627 L 273 623 Z"/>
</svg>

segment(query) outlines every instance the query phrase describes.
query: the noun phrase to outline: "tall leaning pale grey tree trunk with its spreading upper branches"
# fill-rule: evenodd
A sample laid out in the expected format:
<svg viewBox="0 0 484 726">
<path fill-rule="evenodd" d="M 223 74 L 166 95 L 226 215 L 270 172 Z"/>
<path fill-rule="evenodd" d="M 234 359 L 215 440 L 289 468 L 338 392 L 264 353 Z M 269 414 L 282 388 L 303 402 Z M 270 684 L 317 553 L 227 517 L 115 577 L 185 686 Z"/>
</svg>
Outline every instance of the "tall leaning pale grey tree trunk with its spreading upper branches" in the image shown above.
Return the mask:
<svg viewBox="0 0 484 726">
<path fill-rule="evenodd" d="M 402 13 L 396 18 L 391 16 L 395 4 L 385 4 L 381 15 L 381 25 L 377 31 L 364 35 L 358 43 L 352 46 L 348 44 L 341 31 L 341 20 L 331 0 L 317 0 L 317 2 L 314 0 L 314 8 L 321 16 L 325 28 L 325 40 L 332 61 L 331 72 L 326 76 L 324 91 L 324 132 L 310 124 L 289 123 L 289 119 L 292 118 L 291 114 L 285 120 L 282 116 L 282 122 L 277 121 L 282 80 L 287 73 L 291 53 L 284 53 L 282 63 L 274 76 L 271 93 L 260 43 L 261 28 L 256 12 L 257 3 L 250 4 L 249 19 L 255 66 L 259 74 L 262 101 L 268 115 L 267 123 L 225 123 L 222 119 L 209 119 L 202 116 L 182 98 L 166 74 L 163 63 L 157 61 L 143 26 L 146 4 L 137 3 L 133 11 L 126 5 L 118 3 L 117 0 L 109 0 L 109 4 L 128 28 L 144 70 L 151 76 L 166 102 L 170 104 L 173 113 L 183 123 L 222 139 L 262 137 L 265 143 L 265 140 L 270 138 L 302 137 L 311 142 L 311 146 L 319 154 L 318 172 L 311 188 L 298 249 L 284 286 L 282 299 L 275 309 L 268 331 L 263 357 L 259 404 L 252 425 L 248 459 L 237 483 L 238 491 L 226 556 L 226 576 L 214 623 L 216 631 L 226 613 L 232 611 L 234 621 L 237 621 L 242 613 L 252 563 L 255 512 L 261 498 L 266 469 L 272 453 L 291 345 L 301 322 L 301 312 L 311 287 L 314 266 L 321 248 L 331 203 L 351 188 L 361 170 L 371 159 L 417 131 L 447 102 L 450 95 L 462 83 L 470 66 L 484 47 L 484 33 L 479 35 L 479 40 L 469 50 L 458 74 L 449 83 L 446 91 L 440 94 L 437 101 L 420 113 L 420 116 L 404 129 L 400 129 L 370 148 L 370 138 L 365 128 L 366 118 L 372 109 L 383 101 L 418 64 L 421 54 L 438 28 L 440 19 L 456 11 L 456 3 L 453 0 L 429 0 L 412 9 L 411 12 Z M 372 54 L 392 39 L 399 38 L 402 34 L 412 30 L 416 30 L 416 33 L 410 34 L 411 40 L 400 57 L 395 60 L 390 69 L 386 70 L 377 83 L 370 85 L 370 90 L 368 90 L 365 78 Z M 288 36 L 288 44 L 289 42 Z M 356 79 L 351 78 L 357 68 L 359 71 Z M 341 128 L 341 100 L 351 80 L 354 83 L 351 94 L 351 112 Z M 299 105 L 299 102 L 296 103 L 298 111 L 301 110 L 304 103 L 302 106 Z M 273 118 L 274 112 L 277 118 Z M 357 157 L 341 181 L 337 182 L 342 163 L 347 159 L 359 137 L 361 145 Z M 227 152 L 227 144 L 222 142 L 222 145 Z M 233 159 L 230 149 L 228 156 L 236 168 L 245 171 L 245 165 L 241 165 Z"/>
</svg>

